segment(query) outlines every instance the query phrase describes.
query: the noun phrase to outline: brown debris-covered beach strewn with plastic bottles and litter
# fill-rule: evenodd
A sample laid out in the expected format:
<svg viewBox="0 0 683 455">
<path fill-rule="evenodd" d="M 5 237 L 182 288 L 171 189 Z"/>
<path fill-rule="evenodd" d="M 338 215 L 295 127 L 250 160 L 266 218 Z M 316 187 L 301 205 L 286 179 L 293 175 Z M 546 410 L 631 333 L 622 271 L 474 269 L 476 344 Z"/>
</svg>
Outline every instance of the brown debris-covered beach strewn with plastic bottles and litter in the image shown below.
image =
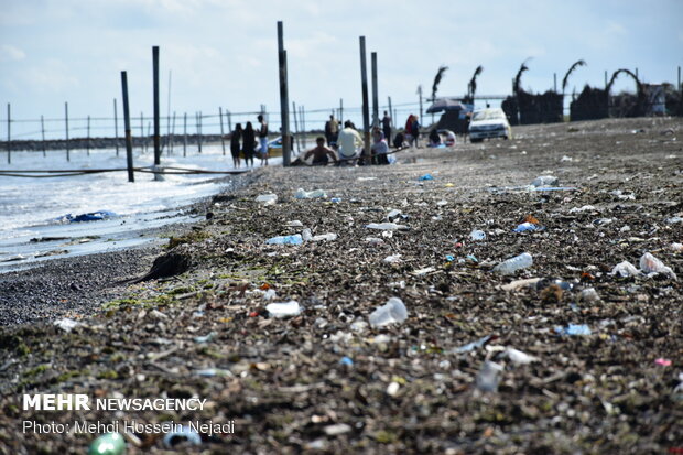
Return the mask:
<svg viewBox="0 0 683 455">
<path fill-rule="evenodd" d="M 683 119 L 513 131 L 408 150 L 390 166 L 260 169 L 207 202 L 214 216 L 182 241 L 139 261 L 142 273 L 153 256 L 186 267 L 121 285 L 73 328 L 1 327 L 0 452 L 85 452 L 94 440 L 22 432 L 45 419 L 21 410 L 23 393 L 206 399 L 189 413 L 48 418 L 234 422 L 176 447 L 186 453 L 677 447 L 683 254 L 671 246 L 683 240 Z M 549 174 L 560 188 L 529 188 Z M 326 197 L 297 199 L 300 187 Z M 268 193 L 274 204 L 256 201 Z M 390 214 L 408 229 L 368 227 Z M 530 216 L 539 227 L 516 232 Z M 267 243 L 304 228 L 336 237 Z M 522 252 L 530 267 L 494 271 Z M 611 273 L 627 260 L 643 268 L 646 252 L 679 279 Z M 371 326 L 390 297 L 408 317 Z M 299 312 L 273 316 L 271 303 L 292 301 Z M 129 452 L 165 453 L 163 436 L 127 436 Z"/>
</svg>

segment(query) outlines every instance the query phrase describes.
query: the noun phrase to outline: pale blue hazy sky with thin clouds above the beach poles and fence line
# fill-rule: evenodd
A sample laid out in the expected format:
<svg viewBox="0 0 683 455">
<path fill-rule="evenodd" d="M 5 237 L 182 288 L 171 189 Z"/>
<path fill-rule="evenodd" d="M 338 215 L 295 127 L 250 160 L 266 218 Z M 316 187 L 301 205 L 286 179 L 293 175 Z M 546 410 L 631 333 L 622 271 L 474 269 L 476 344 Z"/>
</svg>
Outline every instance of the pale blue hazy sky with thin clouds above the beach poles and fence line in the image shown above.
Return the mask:
<svg viewBox="0 0 683 455">
<path fill-rule="evenodd" d="M 110 118 L 113 98 L 121 112 L 123 69 L 131 113 L 150 116 L 159 45 L 164 115 L 171 72 L 171 111 L 178 116 L 194 121 L 196 111 L 252 112 L 263 104 L 279 123 L 278 20 L 290 99 L 321 110 L 307 115 L 308 127 L 340 98 L 345 107 L 360 106 L 360 35 L 368 68 L 369 53 L 378 53 L 382 109 L 388 96 L 394 105 L 415 104 L 419 85 L 429 96 L 440 65 L 449 69 L 438 95 L 449 96 L 464 95 L 477 65 L 484 66 L 478 94 L 509 94 L 528 57 L 522 86 L 532 91 L 552 88 L 553 73 L 560 84 L 579 58 L 587 66 L 575 72 L 570 91 L 601 87 L 604 72 L 621 67 L 638 68 L 644 82 L 675 84 L 683 65 L 679 0 L 0 0 L 0 118 L 8 102 L 13 119 L 62 118 L 65 101 L 69 117 Z M 631 86 L 622 78 L 616 88 Z M 409 110 L 415 109 L 400 107 L 400 121 Z M 360 123 L 357 112 L 351 118 Z M 12 131 L 26 136 L 35 127 L 19 122 Z M 99 128 L 107 134 L 110 127 Z"/>
</svg>

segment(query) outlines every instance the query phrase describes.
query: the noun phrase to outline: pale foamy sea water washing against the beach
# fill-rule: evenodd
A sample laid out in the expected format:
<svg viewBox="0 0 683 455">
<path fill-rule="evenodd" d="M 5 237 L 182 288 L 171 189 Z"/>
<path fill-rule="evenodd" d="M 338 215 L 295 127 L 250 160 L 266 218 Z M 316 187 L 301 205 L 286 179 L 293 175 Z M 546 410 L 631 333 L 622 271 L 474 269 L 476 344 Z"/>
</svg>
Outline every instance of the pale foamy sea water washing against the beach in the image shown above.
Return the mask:
<svg viewBox="0 0 683 455">
<path fill-rule="evenodd" d="M 94 170 L 124 169 L 126 150 L 72 150 L 66 161 L 65 150 L 12 152 L 11 164 L 7 152 L 0 153 L 0 170 Z M 151 166 L 153 152 L 134 152 L 137 167 Z M 258 160 L 257 160 L 258 161 Z M 273 160 L 271 160 L 272 164 Z M 242 162 L 243 164 L 243 162 Z M 165 151 L 162 166 L 193 170 L 231 171 L 229 150 L 223 154 L 220 144 L 196 148 L 176 148 L 171 155 Z M 155 182 L 153 174 L 135 173 L 135 182 L 128 182 L 128 173 L 108 172 L 50 178 L 24 178 L 0 175 L 0 272 L 34 266 L 39 261 L 66 256 L 94 253 L 131 247 L 150 241 L 141 236 L 147 228 L 170 223 L 191 221 L 192 217 L 178 208 L 200 198 L 217 194 L 227 185 L 220 174 L 164 175 Z M 72 216 L 99 210 L 116 214 L 111 218 L 87 223 L 68 223 Z M 33 241 L 32 241 L 33 240 Z M 41 241 L 36 241 L 41 240 Z"/>
</svg>

